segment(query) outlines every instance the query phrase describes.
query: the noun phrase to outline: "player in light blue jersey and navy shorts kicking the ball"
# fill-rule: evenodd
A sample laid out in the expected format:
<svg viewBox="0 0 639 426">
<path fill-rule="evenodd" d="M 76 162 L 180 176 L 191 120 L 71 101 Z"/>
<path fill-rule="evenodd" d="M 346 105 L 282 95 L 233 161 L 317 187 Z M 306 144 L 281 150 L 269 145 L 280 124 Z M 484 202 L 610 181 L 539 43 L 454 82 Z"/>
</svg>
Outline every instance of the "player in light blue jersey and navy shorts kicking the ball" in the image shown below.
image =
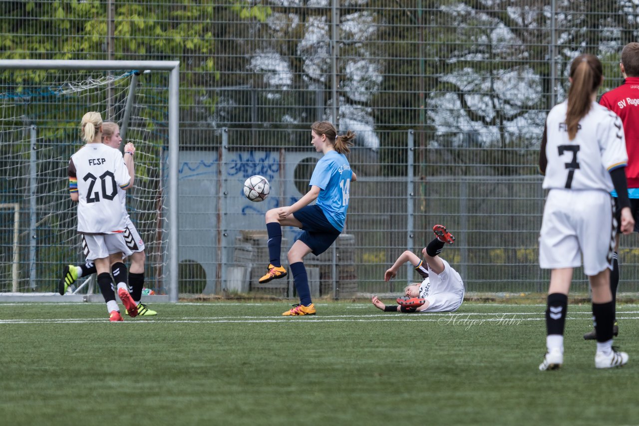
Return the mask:
<svg viewBox="0 0 639 426">
<path fill-rule="evenodd" d="M 280 261 L 282 225 L 295 226 L 304 232 L 288 251 L 288 264 L 300 303 L 284 312 L 284 316 L 314 315 L 304 256 L 320 255 L 337 240 L 344 229 L 351 182 L 357 176 L 351 171 L 346 155 L 353 144 L 355 133 L 337 136 L 335 127 L 328 121 L 316 121 L 311 126 L 311 144 L 324 156 L 315 166 L 309 186 L 311 189 L 292 206 L 270 209 L 266 212 L 268 254 L 270 263 L 266 275 L 259 278 L 261 284 L 286 277 L 286 269 Z M 317 200 L 315 204 L 312 201 Z"/>
</svg>

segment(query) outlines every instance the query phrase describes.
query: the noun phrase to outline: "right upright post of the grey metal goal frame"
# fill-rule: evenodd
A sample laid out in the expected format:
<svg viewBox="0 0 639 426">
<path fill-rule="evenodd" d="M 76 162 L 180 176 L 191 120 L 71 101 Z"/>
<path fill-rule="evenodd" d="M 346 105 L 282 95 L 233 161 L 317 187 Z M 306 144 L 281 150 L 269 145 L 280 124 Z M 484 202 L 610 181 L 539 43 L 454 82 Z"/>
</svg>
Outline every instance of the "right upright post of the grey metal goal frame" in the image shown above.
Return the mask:
<svg viewBox="0 0 639 426">
<path fill-rule="evenodd" d="M 180 159 L 180 67 L 169 75 L 169 301 L 179 297 L 178 161 Z"/>
</svg>

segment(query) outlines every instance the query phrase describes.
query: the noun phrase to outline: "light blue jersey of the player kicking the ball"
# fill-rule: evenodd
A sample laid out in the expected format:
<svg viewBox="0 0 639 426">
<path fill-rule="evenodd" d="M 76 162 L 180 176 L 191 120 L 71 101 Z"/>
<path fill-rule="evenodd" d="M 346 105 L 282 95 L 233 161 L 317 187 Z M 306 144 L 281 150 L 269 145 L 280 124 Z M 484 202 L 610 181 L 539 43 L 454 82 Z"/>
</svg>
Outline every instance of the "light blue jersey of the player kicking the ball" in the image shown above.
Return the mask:
<svg viewBox="0 0 639 426">
<path fill-rule="evenodd" d="M 342 232 L 346 222 L 348 197 L 353 172 L 344 154 L 328 151 L 315 166 L 309 186 L 319 186 L 315 204 L 321 208 L 331 225 Z"/>
</svg>

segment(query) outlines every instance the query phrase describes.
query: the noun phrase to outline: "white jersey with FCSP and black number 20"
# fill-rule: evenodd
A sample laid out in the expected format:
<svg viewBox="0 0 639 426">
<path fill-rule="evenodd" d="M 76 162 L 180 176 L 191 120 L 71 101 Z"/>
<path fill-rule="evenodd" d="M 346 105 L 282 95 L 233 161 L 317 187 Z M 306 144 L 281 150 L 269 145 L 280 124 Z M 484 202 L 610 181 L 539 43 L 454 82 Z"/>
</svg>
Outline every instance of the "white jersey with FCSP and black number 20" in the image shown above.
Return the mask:
<svg viewBox="0 0 639 426">
<path fill-rule="evenodd" d="M 77 181 L 77 231 L 123 232 L 125 215 L 118 190 L 127 188 L 130 176 L 120 151 L 101 143 L 86 144 L 71 156 L 68 172 L 72 191 Z"/>
</svg>

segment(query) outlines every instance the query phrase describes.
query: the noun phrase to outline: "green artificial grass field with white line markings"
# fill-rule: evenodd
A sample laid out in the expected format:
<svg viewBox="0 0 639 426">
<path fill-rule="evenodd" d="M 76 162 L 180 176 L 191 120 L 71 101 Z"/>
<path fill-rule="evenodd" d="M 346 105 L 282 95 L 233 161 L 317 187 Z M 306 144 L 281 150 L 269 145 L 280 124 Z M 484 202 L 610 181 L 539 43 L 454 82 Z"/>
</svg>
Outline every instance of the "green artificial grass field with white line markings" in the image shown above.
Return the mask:
<svg viewBox="0 0 639 426">
<path fill-rule="evenodd" d="M 627 425 L 639 422 L 639 305 L 619 305 L 619 369 L 594 368 L 569 305 L 560 370 L 540 372 L 542 305 L 392 314 L 370 303 L 0 303 L 6 425 Z"/>
</svg>

